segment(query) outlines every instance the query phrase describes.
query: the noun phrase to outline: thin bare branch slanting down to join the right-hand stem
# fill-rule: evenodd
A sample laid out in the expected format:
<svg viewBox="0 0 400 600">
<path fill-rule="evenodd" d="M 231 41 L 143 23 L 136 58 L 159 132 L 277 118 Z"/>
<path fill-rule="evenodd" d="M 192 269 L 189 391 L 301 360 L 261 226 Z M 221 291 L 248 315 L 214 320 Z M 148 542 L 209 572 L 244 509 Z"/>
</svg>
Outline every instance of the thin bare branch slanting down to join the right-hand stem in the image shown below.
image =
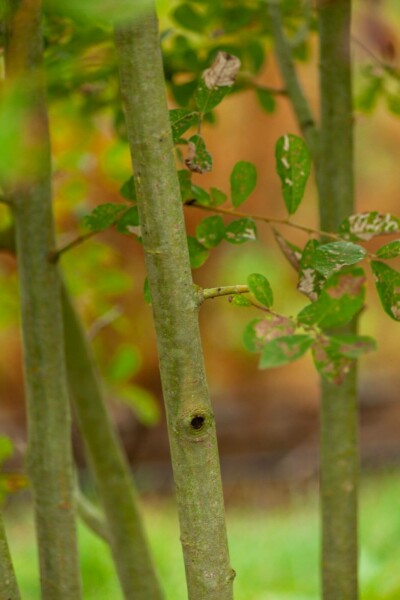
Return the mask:
<svg viewBox="0 0 400 600">
<path fill-rule="evenodd" d="M 318 128 L 309 103 L 304 95 L 292 60 L 290 44 L 283 31 L 282 14 L 277 2 L 269 2 L 272 33 L 279 69 L 291 100 L 299 127 L 310 148 L 314 161 L 318 158 Z"/>
</svg>

